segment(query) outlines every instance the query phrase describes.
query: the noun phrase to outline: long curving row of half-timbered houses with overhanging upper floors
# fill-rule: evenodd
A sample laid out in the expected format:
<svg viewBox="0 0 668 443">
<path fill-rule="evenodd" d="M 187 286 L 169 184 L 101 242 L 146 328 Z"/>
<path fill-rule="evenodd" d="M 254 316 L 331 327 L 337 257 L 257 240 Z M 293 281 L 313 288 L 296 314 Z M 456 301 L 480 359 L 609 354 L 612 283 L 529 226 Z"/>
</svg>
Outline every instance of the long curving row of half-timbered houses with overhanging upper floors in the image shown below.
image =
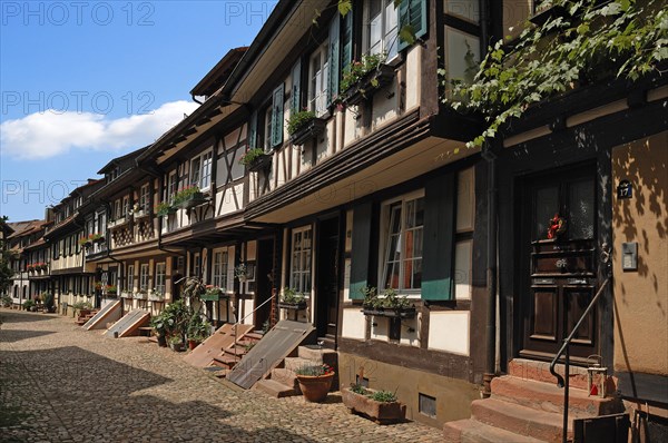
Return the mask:
<svg viewBox="0 0 668 443">
<path fill-rule="evenodd" d="M 14 303 L 48 291 L 157 313 L 198 276 L 228 296 L 207 302 L 218 325 L 312 323 L 342 386 L 396 391 L 440 426 L 494 374 L 544 372 L 600 289 L 571 363 L 600 356 L 628 407 L 666 416 L 666 78 L 578 88 L 466 149 L 481 121 L 441 102 L 436 71 L 464 78 L 532 2 L 336 6 L 279 1 L 190 91 L 196 111 L 14 226 Z M 370 55 L 373 72 L 345 75 Z M 554 217 L 568 229 L 549 239 Z M 363 309 L 369 287 L 414 312 Z M 305 308 L 279 308 L 285 288 Z"/>
</svg>

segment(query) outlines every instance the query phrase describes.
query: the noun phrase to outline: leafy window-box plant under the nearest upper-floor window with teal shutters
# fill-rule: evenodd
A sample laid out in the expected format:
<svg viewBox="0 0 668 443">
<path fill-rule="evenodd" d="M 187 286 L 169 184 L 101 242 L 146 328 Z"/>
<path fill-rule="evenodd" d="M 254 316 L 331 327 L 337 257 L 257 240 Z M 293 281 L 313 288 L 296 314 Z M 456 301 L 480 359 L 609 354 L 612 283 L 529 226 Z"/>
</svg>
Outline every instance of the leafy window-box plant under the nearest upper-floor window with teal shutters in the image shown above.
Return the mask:
<svg viewBox="0 0 668 443">
<path fill-rule="evenodd" d="M 390 85 L 394 79 L 394 68 L 385 65 L 385 53 L 364 55 L 361 60 L 353 60 L 343 72 L 340 100 L 346 105 L 358 105 L 371 93 Z"/>
</svg>

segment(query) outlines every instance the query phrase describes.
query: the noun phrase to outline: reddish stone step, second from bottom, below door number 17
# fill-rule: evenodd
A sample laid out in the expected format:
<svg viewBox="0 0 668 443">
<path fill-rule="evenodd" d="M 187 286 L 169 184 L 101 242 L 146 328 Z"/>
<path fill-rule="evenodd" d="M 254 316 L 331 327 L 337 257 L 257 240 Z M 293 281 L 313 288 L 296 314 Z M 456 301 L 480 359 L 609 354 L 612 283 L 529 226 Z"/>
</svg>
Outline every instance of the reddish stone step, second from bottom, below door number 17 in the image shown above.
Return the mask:
<svg viewBox="0 0 668 443">
<path fill-rule="evenodd" d="M 561 442 L 561 414 L 537 411 L 532 407 L 503 402 L 497 398 L 475 400 L 471 404 L 471 417 L 493 427 L 531 436 L 546 442 Z M 569 420 L 569 437 L 572 439 L 572 421 Z"/>
</svg>

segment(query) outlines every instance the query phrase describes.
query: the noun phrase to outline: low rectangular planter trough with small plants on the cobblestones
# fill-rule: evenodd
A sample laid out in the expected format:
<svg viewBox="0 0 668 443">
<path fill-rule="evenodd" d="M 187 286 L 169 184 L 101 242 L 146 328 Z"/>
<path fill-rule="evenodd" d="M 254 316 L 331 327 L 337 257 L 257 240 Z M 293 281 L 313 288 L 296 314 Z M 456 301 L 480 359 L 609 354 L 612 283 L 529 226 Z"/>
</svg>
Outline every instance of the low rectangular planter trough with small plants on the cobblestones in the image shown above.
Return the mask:
<svg viewBox="0 0 668 443">
<path fill-rule="evenodd" d="M 362 414 L 377 424 L 395 423 L 406 416 L 406 405 L 400 403 L 391 391 L 374 391 L 353 384 L 343 388 L 341 396 L 351 412 Z"/>
</svg>

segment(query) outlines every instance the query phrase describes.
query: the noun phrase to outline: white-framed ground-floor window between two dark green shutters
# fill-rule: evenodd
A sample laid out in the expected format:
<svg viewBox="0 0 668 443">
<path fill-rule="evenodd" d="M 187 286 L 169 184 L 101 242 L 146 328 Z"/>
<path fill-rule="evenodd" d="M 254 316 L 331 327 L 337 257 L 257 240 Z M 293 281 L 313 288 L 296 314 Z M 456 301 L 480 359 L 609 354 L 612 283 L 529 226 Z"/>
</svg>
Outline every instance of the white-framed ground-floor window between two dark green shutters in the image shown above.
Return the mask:
<svg viewBox="0 0 668 443">
<path fill-rule="evenodd" d="M 381 287 L 397 291 L 422 286 L 424 197 L 404 197 L 383 207 Z"/>
</svg>

